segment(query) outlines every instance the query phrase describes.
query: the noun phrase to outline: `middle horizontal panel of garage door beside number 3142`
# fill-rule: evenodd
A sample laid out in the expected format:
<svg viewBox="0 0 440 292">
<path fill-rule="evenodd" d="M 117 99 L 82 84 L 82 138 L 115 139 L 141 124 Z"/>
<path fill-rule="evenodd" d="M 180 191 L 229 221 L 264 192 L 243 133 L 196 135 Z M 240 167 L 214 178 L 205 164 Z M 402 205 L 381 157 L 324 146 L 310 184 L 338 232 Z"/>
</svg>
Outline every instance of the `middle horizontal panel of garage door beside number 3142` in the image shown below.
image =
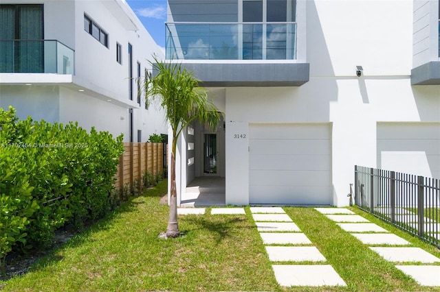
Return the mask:
<svg viewBox="0 0 440 292">
<path fill-rule="evenodd" d="M 318 170 L 329 171 L 329 156 L 325 155 L 254 155 L 251 170 Z"/>
</svg>

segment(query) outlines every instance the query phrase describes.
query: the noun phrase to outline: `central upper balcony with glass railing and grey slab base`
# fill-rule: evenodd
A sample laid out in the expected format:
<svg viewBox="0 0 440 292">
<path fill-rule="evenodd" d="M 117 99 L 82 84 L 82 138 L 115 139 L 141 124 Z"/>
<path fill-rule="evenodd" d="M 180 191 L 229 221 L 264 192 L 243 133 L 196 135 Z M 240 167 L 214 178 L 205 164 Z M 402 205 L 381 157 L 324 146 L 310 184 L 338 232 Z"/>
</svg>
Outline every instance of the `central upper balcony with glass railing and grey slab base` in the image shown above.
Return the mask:
<svg viewBox="0 0 440 292">
<path fill-rule="evenodd" d="M 296 23 L 166 23 L 166 59 L 181 60 L 202 86 L 301 86 Z"/>
</svg>

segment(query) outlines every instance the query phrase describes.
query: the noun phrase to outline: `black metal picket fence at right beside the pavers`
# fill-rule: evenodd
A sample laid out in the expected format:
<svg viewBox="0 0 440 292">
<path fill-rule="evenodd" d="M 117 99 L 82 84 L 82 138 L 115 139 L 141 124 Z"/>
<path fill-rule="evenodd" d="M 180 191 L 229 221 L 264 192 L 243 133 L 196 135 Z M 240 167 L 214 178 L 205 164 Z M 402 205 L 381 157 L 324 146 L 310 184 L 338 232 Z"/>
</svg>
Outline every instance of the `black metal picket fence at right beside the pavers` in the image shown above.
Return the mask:
<svg viewBox="0 0 440 292">
<path fill-rule="evenodd" d="M 355 204 L 440 247 L 440 180 L 356 165 Z"/>
</svg>

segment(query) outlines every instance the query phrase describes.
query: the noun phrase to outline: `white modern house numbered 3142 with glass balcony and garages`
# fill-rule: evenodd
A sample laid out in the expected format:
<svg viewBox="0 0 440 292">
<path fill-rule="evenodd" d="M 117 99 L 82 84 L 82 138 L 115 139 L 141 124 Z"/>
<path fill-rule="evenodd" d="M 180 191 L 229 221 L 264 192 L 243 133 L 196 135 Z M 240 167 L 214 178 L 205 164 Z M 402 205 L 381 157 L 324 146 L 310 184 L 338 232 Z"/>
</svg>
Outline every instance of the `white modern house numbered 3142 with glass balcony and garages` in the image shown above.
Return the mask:
<svg viewBox="0 0 440 292">
<path fill-rule="evenodd" d="M 168 0 L 166 59 L 223 112 L 179 141 L 178 204 L 347 206 L 354 166 L 440 178 L 438 0 Z"/>
</svg>

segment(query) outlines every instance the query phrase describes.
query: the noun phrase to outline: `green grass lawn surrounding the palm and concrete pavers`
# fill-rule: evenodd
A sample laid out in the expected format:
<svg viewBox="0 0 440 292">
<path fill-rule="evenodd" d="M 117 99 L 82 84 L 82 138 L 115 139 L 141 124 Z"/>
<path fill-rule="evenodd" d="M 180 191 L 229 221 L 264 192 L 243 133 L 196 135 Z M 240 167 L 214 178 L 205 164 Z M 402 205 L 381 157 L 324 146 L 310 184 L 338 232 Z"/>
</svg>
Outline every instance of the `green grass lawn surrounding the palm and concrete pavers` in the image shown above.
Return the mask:
<svg viewBox="0 0 440 292">
<path fill-rule="evenodd" d="M 186 232 L 158 239 L 168 206 L 166 181 L 74 237 L 3 291 L 439 291 L 421 287 L 313 208 L 285 208 L 347 287 L 279 287 L 249 208 L 246 215 L 179 216 Z M 357 208 L 436 256 L 439 250 Z"/>
</svg>

